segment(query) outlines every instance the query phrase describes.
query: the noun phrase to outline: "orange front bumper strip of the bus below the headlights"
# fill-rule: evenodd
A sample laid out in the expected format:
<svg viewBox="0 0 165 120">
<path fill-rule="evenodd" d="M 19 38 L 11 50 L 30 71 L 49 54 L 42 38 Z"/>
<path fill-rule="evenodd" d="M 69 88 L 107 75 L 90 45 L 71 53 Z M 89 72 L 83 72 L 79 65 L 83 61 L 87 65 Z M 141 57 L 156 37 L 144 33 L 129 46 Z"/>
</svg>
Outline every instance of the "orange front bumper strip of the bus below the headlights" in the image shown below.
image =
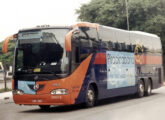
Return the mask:
<svg viewBox="0 0 165 120">
<path fill-rule="evenodd" d="M 13 95 L 14 102 L 20 105 L 70 105 L 70 94 L 68 95 Z"/>
</svg>

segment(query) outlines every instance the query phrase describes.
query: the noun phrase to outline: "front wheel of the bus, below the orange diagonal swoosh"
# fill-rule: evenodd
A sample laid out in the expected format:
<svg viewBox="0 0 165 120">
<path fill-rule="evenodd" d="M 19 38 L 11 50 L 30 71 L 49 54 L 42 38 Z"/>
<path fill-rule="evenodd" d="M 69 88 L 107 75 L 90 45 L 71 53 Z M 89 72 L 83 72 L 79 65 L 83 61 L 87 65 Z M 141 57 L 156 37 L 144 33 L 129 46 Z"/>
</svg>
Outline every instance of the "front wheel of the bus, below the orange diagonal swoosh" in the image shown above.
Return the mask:
<svg viewBox="0 0 165 120">
<path fill-rule="evenodd" d="M 86 93 L 86 101 L 85 105 L 86 107 L 93 107 L 96 102 L 96 94 L 92 86 L 88 87 L 87 93 Z"/>
</svg>

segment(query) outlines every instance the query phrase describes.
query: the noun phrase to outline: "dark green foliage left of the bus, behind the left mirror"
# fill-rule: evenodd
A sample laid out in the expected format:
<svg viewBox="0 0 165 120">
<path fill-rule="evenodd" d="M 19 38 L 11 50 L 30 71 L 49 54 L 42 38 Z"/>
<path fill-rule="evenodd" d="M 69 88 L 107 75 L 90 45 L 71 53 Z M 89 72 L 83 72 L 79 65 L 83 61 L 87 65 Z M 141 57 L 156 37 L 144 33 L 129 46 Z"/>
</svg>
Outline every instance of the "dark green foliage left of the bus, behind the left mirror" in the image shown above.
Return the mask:
<svg viewBox="0 0 165 120">
<path fill-rule="evenodd" d="M 3 64 L 5 64 L 7 66 L 12 65 L 13 64 L 15 41 L 11 41 L 9 43 L 7 54 L 2 53 L 2 45 L 3 45 L 3 41 L 0 42 L 0 62 L 3 62 Z"/>
</svg>

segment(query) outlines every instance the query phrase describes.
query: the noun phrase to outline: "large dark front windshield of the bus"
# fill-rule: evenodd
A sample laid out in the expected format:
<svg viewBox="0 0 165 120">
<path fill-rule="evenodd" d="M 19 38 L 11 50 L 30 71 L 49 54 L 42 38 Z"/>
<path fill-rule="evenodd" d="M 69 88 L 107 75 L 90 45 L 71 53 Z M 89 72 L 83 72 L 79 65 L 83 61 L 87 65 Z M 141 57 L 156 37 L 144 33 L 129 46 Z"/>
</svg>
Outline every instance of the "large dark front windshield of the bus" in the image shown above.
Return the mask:
<svg viewBox="0 0 165 120">
<path fill-rule="evenodd" d="M 18 34 L 16 74 L 68 74 L 65 35 L 69 29 L 44 29 Z"/>
</svg>

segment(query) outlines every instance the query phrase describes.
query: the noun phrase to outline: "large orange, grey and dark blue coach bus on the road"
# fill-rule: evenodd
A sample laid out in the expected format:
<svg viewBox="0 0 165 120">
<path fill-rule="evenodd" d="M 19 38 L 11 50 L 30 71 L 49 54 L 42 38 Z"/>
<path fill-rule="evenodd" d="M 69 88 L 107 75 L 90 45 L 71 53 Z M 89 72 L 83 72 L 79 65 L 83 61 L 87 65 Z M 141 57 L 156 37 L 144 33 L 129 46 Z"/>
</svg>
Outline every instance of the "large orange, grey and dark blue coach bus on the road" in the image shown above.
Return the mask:
<svg viewBox="0 0 165 120">
<path fill-rule="evenodd" d="M 16 38 L 13 99 L 20 105 L 85 103 L 136 94 L 149 96 L 163 82 L 156 35 L 94 23 L 20 30 Z"/>
</svg>

